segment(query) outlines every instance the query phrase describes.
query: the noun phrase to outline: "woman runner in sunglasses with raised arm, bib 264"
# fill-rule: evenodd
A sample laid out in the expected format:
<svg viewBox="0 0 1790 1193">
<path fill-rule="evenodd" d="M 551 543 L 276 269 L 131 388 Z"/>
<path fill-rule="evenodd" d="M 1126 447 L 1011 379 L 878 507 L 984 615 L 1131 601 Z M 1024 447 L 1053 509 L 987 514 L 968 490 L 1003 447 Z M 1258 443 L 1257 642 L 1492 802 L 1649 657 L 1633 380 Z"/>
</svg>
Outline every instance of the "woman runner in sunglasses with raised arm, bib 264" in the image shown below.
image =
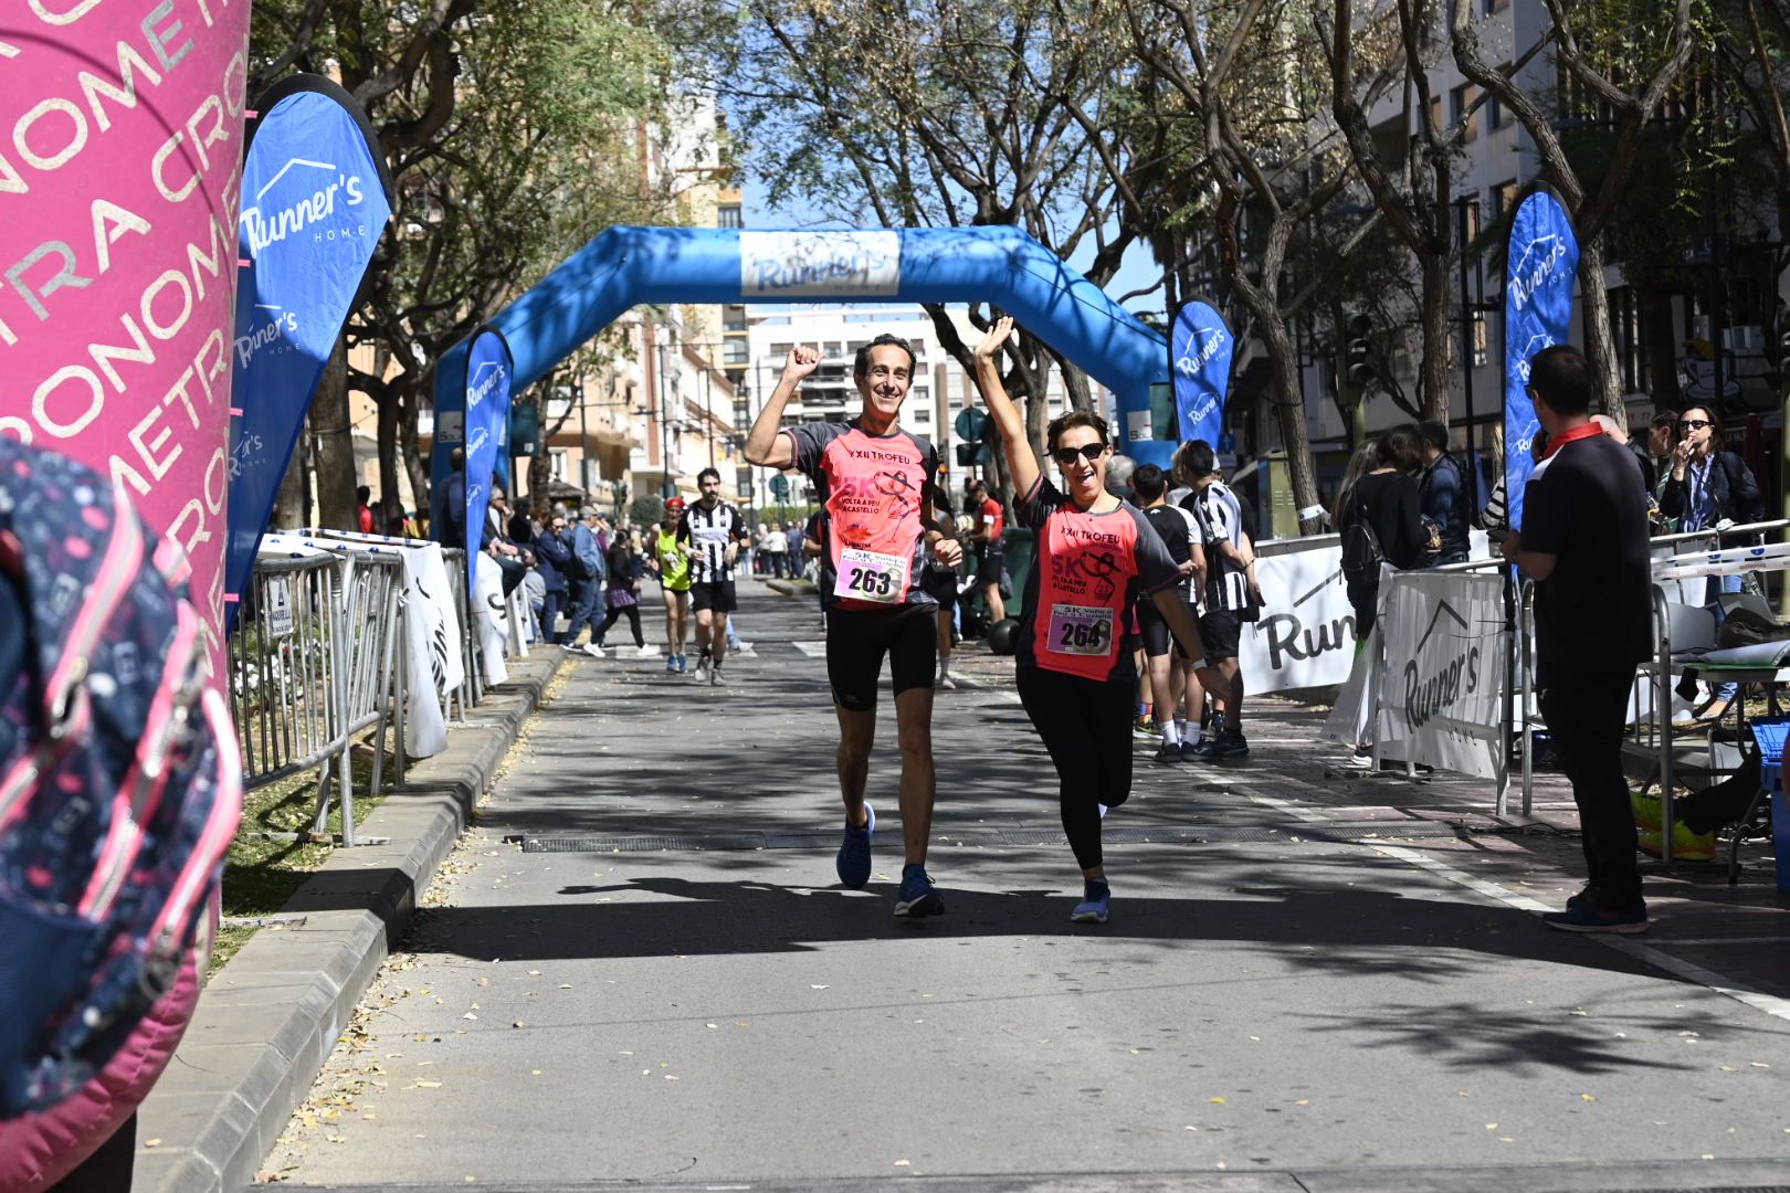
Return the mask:
<svg viewBox="0 0 1790 1193">
<path fill-rule="evenodd" d="M 1113 449 L 1106 422 L 1070 411 L 1051 420 L 1051 458 L 1063 487 L 1044 479 L 1026 420 L 995 363 L 1013 320 L 1001 318 L 976 347 L 976 388 L 1001 433 L 1015 515 L 1033 531 L 1017 635 L 1019 696 L 1056 764 L 1063 833 L 1081 866 L 1078 923 L 1106 923 L 1112 889 L 1101 857 L 1101 817 L 1131 794 L 1131 694 L 1137 667 L 1124 649 L 1126 612 L 1149 592 L 1169 631 L 1201 660 L 1199 630 L 1174 585 L 1181 569 L 1135 508 L 1106 492 Z"/>
</svg>

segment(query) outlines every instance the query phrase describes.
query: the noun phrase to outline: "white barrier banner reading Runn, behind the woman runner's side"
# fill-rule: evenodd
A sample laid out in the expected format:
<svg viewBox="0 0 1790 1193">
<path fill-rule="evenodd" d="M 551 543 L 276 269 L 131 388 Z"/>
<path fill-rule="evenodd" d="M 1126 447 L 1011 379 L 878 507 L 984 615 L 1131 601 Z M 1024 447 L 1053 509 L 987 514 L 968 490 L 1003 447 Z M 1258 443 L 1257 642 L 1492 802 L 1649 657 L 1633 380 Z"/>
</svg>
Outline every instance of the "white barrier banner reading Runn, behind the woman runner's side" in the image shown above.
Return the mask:
<svg viewBox="0 0 1790 1193">
<path fill-rule="evenodd" d="M 1255 562 L 1267 608 L 1244 624 L 1237 658 L 1251 692 L 1332 687 L 1355 662 L 1355 610 L 1342 585 L 1342 547 L 1264 554 Z"/>
</svg>

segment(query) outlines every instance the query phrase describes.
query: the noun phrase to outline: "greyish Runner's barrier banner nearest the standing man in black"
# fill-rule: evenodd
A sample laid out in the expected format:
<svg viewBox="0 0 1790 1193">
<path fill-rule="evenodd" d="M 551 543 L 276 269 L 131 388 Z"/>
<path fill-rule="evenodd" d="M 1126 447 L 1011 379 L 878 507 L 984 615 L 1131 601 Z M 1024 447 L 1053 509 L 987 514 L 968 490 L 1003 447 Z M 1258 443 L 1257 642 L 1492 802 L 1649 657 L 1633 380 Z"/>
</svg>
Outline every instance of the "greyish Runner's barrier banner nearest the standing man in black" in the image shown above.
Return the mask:
<svg viewBox="0 0 1790 1193">
<path fill-rule="evenodd" d="M 1504 578 L 1398 572 L 1380 594 L 1385 671 L 1380 749 L 1498 778 L 1504 694 Z"/>
</svg>

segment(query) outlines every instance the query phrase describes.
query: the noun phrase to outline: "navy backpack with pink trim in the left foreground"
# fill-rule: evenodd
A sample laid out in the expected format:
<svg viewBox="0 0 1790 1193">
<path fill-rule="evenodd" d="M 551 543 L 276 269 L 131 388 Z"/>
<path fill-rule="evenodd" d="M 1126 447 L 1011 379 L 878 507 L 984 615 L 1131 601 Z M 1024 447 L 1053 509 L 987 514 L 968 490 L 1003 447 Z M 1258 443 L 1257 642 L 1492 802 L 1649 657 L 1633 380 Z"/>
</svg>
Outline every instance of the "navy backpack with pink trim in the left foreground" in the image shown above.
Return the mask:
<svg viewBox="0 0 1790 1193">
<path fill-rule="evenodd" d="M 0 1118 L 172 989 L 242 816 L 186 558 L 122 487 L 0 438 Z"/>
</svg>

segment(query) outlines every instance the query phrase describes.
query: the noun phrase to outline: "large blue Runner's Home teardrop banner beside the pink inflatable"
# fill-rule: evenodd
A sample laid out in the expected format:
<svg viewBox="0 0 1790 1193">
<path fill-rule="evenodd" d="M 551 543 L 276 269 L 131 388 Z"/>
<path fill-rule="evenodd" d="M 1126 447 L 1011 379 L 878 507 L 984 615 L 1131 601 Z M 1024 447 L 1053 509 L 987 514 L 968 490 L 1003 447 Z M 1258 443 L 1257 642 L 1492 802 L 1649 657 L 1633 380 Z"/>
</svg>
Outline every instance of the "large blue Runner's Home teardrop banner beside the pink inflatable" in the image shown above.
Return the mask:
<svg viewBox="0 0 1790 1193">
<path fill-rule="evenodd" d="M 226 601 L 254 571 L 299 427 L 392 216 L 392 177 L 362 106 L 320 75 L 256 104 L 236 225 Z M 231 613 L 234 617 L 234 613 Z"/>
</svg>

